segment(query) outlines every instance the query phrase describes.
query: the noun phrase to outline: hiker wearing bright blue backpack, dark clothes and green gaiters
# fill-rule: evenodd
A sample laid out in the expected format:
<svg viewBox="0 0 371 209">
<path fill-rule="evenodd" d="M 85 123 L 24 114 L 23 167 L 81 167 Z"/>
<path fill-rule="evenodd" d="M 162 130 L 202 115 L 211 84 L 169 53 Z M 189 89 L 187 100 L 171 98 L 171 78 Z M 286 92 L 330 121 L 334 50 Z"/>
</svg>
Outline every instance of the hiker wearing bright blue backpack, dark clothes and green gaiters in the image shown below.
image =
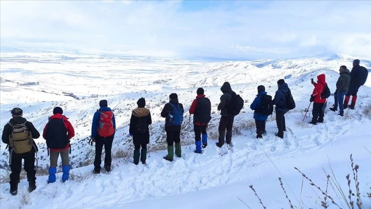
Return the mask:
<svg viewBox="0 0 371 209">
<path fill-rule="evenodd" d="M 168 154 L 164 159 L 173 161 L 174 143 L 175 155 L 181 157 L 180 128 L 183 122 L 183 105 L 178 101 L 178 95 L 173 93 L 169 96 L 170 101 L 166 103 L 161 111 L 161 117 L 165 118 L 166 142 L 168 143 Z"/>
</svg>

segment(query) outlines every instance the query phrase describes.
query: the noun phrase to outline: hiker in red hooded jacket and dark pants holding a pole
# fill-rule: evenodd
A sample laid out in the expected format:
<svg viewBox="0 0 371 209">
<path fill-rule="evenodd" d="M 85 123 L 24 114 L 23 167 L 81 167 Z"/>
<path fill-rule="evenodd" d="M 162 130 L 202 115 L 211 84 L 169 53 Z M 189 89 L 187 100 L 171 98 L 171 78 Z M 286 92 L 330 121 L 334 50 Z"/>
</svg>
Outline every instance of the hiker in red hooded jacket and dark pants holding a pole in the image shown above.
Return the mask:
<svg viewBox="0 0 371 209">
<path fill-rule="evenodd" d="M 311 95 L 310 102 L 313 103 L 313 118 L 312 121 L 309 122 L 310 124 L 316 125 L 318 123 L 323 123 L 323 117 L 324 117 L 324 105 L 326 104 L 326 99 L 321 97 L 321 94 L 324 91 L 324 87 L 327 85 L 326 83 L 326 76 L 324 74 L 321 74 L 317 76 L 317 83 L 313 81 L 312 84 L 314 85 L 313 93 Z"/>
</svg>

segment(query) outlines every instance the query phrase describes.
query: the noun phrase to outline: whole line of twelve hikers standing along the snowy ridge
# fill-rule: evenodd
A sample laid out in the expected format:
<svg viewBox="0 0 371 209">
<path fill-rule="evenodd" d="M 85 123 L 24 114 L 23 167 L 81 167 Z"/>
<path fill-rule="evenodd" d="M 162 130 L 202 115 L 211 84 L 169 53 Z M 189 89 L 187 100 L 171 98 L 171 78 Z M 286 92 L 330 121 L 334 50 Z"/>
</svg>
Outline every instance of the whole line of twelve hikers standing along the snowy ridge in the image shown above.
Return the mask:
<svg viewBox="0 0 371 209">
<path fill-rule="evenodd" d="M 343 116 L 344 108 L 355 108 L 357 100 L 357 91 L 367 79 L 367 69 L 359 65 L 359 60 L 353 61 L 352 71 L 349 72 L 346 66 L 342 65 L 339 69 L 340 77 L 336 83 L 336 91 L 334 92 L 335 103 L 330 108 L 332 111 L 337 111 L 340 107 L 339 115 Z M 367 73 L 366 73 L 367 72 Z M 323 123 L 324 108 L 326 108 L 327 98 L 330 96 L 326 77 L 324 74 L 317 76 L 317 82 L 312 79 L 314 90 L 310 97 L 310 102 L 313 104 L 313 118 L 311 124 Z M 253 118 L 256 122 L 257 138 L 262 138 L 266 132 L 265 124 L 269 115 L 273 113 L 275 106 L 276 124 L 278 132 L 277 137 L 284 138 L 286 131 L 285 113 L 290 109 L 295 108 L 295 102 L 291 95 L 291 90 L 285 83 L 284 79 L 277 81 L 278 89 L 275 92 L 274 98 L 267 95 L 263 85 L 258 86 L 258 95 L 250 105 L 254 110 Z M 234 118 L 240 113 L 243 108 L 243 99 L 231 89 L 229 82 L 224 82 L 220 90 L 222 96 L 218 104 L 221 118 L 219 122 L 219 138 L 216 143 L 217 147 L 222 147 L 226 144 L 229 149 L 232 146 L 232 129 Z M 207 147 L 207 124 L 211 121 L 211 102 L 204 95 L 204 89 L 198 88 L 196 99 L 193 100 L 189 109 L 189 113 L 193 114 L 193 124 L 195 132 L 195 153 L 202 153 L 202 150 Z M 345 100 L 343 99 L 345 95 Z M 352 96 L 352 103 L 348 105 Z M 181 157 L 180 145 L 180 130 L 183 122 L 183 105 L 179 103 L 177 94 L 173 93 L 169 96 L 170 101 L 165 104 L 161 111 L 161 117 L 165 118 L 166 141 L 168 144 L 168 154 L 164 156 L 165 160 L 173 161 L 174 159 L 174 144 L 175 155 Z M 344 100 L 344 101 L 343 101 Z M 310 103 L 310 104 L 311 104 Z M 95 112 L 92 119 L 91 138 L 89 144 L 95 143 L 95 174 L 101 172 L 101 155 L 103 146 L 105 149 L 104 169 L 106 172 L 111 171 L 111 148 L 116 130 L 114 113 L 108 107 L 107 100 L 99 102 L 100 108 Z M 150 131 L 149 125 L 152 124 L 151 113 L 146 106 L 146 100 L 140 98 L 137 101 L 137 108 L 132 110 L 129 126 L 129 135 L 133 137 L 134 152 L 133 163 L 135 165 L 146 164 L 147 145 L 149 144 Z M 27 172 L 29 182 L 29 192 L 36 189 L 36 170 L 35 170 L 35 154 L 38 151 L 34 138 L 38 138 L 40 133 L 34 125 L 22 118 L 23 111 L 19 107 L 11 110 L 12 119 L 7 123 L 3 130 L 2 141 L 9 145 L 9 164 L 11 168 L 10 174 L 10 193 L 17 195 L 18 183 L 20 180 L 21 161 L 24 162 L 24 169 Z M 68 118 L 63 115 L 61 107 L 53 109 L 53 115 L 49 117 L 49 122 L 43 129 L 43 138 L 46 140 L 48 154 L 50 155 L 50 167 L 48 183 L 56 181 L 57 161 L 59 154 L 62 158 L 62 181 L 68 180 L 69 177 L 69 154 L 71 154 L 71 138 L 75 135 L 72 124 Z"/>
</svg>

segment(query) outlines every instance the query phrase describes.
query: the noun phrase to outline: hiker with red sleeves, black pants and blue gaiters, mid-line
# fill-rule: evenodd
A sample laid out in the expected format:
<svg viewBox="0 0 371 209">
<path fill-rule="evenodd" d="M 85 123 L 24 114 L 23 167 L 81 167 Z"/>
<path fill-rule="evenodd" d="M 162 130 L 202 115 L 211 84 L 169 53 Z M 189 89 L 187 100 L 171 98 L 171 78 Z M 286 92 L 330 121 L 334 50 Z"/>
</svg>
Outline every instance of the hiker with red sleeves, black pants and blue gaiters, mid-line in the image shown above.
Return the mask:
<svg viewBox="0 0 371 209">
<path fill-rule="evenodd" d="M 193 114 L 193 130 L 195 131 L 195 153 L 201 153 L 201 133 L 202 133 L 202 148 L 207 146 L 207 124 L 211 120 L 211 102 L 204 95 L 203 88 L 197 89 L 196 99 L 193 100 L 190 107 L 190 117 Z"/>
</svg>

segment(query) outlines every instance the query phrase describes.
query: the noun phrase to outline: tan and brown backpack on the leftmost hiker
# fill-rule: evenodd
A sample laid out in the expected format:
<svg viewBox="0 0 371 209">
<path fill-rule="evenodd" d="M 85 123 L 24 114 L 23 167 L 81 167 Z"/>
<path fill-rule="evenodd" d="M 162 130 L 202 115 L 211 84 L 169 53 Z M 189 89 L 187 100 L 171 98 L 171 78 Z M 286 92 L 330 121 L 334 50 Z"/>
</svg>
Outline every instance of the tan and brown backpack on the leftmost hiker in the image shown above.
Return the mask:
<svg viewBox="0 0 371 209">
<path fill-rule="evenodd" d="M 27 122 L 27 121 L 26 121 Z M 32 149 L 32 136 L 26 127 L 26 122 L 22 124 L 11 124 L 12 131 L 9 135 L 9 146 L 17 154 L 30 152 Z"/>
</svg>

